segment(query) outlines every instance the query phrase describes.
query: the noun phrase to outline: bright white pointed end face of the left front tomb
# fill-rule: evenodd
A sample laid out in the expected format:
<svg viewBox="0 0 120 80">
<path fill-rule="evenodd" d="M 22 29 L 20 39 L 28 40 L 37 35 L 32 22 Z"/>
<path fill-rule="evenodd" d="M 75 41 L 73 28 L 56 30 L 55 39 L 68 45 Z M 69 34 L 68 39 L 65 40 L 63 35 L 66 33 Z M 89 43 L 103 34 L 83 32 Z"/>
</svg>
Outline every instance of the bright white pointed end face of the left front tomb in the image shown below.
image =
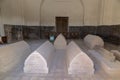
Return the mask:
<svg viewBox="0 0 120 80">
<path fill-rule="evenodd" d="M 24 63 L 25 73 L 48 73 L 47 63 L 39 52 L 34 51 Z"/>
</svg>

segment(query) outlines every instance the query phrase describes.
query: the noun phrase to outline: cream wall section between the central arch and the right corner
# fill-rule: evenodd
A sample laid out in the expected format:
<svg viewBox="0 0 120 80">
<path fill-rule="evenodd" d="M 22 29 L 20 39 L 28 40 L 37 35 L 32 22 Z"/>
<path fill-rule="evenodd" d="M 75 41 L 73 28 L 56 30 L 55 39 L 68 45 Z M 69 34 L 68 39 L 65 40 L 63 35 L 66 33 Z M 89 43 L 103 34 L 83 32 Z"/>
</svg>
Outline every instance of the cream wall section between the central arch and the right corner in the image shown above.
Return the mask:
<svg viewBox="0 0 120 80">
<path fill-rule="evenodd" d="M 83 0 L 85 13 L 84 25 L 99 25 L 99 5 L 100 0 Z"/>
</svg>

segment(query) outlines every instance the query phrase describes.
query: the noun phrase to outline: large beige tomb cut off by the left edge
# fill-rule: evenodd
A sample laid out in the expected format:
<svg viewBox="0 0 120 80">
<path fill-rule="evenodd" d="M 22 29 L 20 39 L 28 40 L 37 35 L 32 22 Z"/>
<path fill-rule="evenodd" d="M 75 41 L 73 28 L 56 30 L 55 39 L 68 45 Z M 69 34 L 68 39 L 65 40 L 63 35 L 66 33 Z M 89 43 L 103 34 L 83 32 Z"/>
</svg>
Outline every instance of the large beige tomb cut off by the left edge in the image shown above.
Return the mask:
<svg viewBox="0 0 120 80">
<path fill-rule="evenodd" d="M 25 41 L 0 47 L 0 72 L 7 72 L 19 66 L 31 53 Z"/>
</svg>

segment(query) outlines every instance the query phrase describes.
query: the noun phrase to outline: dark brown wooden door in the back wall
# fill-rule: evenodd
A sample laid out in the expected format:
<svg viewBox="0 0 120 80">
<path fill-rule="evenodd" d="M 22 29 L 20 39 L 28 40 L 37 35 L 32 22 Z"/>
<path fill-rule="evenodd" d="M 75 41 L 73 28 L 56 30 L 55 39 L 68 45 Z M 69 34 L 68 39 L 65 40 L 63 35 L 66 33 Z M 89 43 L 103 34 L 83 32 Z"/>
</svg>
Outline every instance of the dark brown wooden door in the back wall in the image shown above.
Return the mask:
<svg viewBox="0 0 120 80">
<path fill-rule="evenodd" d="M 68 17 L 56 17 L 56 31 L 68 32 Z"/>
</svg>

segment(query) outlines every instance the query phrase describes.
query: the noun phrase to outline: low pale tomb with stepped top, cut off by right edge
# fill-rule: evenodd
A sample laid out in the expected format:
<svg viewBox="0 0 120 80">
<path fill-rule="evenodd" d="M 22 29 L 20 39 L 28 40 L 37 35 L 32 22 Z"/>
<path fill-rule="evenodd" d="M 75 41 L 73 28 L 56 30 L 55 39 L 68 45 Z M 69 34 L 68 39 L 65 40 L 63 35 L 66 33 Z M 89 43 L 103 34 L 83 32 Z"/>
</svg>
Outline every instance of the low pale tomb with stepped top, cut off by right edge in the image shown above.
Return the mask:
<svg viewBox="0 0 120 80">
<path fill-rule="evenodd" d="M 120 74 L 120 61 L 115 58 L 113 53 L 106 49 L 89 50 L 89 52 L 96 58 L 99 65 L 106 73 L 111 76 Z"/>
</svg>

